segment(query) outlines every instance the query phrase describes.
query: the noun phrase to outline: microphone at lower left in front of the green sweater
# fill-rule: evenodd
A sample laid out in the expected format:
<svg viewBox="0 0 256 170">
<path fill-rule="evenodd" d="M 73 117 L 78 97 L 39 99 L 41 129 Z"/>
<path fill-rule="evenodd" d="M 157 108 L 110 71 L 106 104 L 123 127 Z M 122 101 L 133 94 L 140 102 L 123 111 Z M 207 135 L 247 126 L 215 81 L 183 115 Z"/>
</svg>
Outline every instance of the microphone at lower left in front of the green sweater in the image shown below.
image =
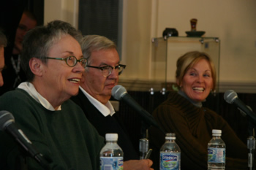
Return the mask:
<svg viewBox="0 0 256 170">
<path fill-rule="evenodd" d="M 23 131 L 16 127 L 14 117 L 8 111 L 0 111 L 0 130 L 10 134 L 43 168 L 50 169 L 42 154 L 37 151 L 32 142 L 23 134 Z"/>
</svg>

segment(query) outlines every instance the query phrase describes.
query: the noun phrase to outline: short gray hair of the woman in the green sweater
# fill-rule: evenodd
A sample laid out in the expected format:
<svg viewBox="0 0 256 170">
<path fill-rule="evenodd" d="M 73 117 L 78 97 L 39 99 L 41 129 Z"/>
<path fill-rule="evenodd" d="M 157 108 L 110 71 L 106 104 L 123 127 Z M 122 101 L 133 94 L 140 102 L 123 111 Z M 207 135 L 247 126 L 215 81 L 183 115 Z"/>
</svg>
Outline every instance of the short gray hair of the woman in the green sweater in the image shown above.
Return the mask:
<svg viewBox="0 0 256 170">
<path fill-rule="evenodd" d="M 50 47 L 64 35 L 72 36 L 79 43 L 83 37 L 80 31 L 71 26 L 71 24 L 61 20 L 53 20 L 47 26 L 38 26 L 27 32 L 23 39 L 21 66 L 26 73 L 28 81 L 34 79 L 34 74 L 29 67 L 30 59 L 39 58 L 43 63 L 47 63 L 45 57 L 48 56 Z"/>
</svg>

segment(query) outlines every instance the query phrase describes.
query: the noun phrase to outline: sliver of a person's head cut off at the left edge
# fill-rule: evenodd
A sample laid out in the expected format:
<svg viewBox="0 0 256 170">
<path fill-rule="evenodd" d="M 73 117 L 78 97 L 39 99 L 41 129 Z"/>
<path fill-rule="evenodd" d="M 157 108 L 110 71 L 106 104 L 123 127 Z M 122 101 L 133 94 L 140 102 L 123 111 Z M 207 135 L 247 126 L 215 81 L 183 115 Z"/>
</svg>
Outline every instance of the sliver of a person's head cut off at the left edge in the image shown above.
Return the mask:
<svg viewBox="0 0 256 170">
<path fill-rule="evenodd" d="M 0 30 L 0 87 L 4 85 L 4 80 L 1 72 L 4 69 L 4 47 L 7 46 L 7 38 L 4 33 Z"/>
</svg>

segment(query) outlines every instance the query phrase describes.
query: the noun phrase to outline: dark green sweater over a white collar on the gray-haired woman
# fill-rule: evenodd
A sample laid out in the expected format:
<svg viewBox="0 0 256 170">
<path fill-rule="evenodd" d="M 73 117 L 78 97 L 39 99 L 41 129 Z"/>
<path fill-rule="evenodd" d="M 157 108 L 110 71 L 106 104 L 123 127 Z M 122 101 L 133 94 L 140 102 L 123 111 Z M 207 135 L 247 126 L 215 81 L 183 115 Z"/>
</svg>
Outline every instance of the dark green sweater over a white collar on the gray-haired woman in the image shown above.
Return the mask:
<svg viewBox="0 0 256 170">
<path fill-rule="evenodd" d="M 73 101 L 61 104 L 61 110 L 42 107 L 24 90 L 14 90 L 0 97 L 0 110 L 15 117 L 15 124 L 50 163 L 50 169 L 99 169 L 99 152 L 104 139 L 89 123 Z M 33 158 L 24 159 L 15 140 L 0 132 L 0 169 L 42 169 Z"/>
</svg>

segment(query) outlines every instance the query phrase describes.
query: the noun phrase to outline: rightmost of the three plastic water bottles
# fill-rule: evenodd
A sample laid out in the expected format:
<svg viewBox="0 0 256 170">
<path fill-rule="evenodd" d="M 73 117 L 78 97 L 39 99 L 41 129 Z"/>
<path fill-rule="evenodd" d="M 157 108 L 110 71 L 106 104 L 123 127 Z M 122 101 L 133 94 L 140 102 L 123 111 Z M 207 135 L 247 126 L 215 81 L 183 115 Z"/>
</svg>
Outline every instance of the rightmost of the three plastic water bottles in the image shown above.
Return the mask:
<svg viewBox="0 0 256 170">
<path fill-rule="evenodd" d="M 226 145 L 221 136 L 222 130 L 212 130 L 212 139 L 208 142 L 208 170 L 225 169 Z"/>
</svg>

